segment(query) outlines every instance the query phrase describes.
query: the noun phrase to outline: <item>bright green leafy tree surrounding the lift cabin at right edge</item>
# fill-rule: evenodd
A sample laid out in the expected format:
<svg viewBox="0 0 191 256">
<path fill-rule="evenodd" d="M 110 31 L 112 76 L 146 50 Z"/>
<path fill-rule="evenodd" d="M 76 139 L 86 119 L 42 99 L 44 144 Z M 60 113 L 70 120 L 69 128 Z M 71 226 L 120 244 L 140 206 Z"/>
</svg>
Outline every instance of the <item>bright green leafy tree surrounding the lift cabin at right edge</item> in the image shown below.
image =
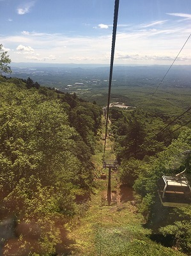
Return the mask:
<svg viewBox="0 0 191 256">
<path fill-rule="evenodd" d="M 169 225 L 172 224 L 171 221 L 174 223 L 176 220 L 176 218 L 171 218 L 170 211 L 165 212 L 164 207 L 161 206 L 157 193 L 157 182 L 163 174 L 174 176 L 176 173 L 184 170 L 185 155 L 183 153 L 191 147 L 190 141 L 190 129 L 187 129 L 181 132 L 178 140 L 173 140 L 169 147 L 165 148 L 163 152 L 158 153 L 157 157 L 145 157 L 141 167 L 139 167 L 139 172 L 137 172 L 138 177 L 135 180 L 134 188 L 136 193 L 141 196 L 139 209 L 147 216 L 149 223 L 154 223 L 155 230 L 157 225 L 159 226 L 158 228 L 164 225 L 162 223 L 164 220 Z M 143 166 L 145 168 L 142 168 Z M 187 171 L 187 177 L 190 180 L 190 169 Z M 174 216 L 182 216 L 183 220 L 185 219 L 184 216 L 188 214 L 191 216 L 189 207 L 188 209 L 180 209 L 180 212 Z"/>
</svg>

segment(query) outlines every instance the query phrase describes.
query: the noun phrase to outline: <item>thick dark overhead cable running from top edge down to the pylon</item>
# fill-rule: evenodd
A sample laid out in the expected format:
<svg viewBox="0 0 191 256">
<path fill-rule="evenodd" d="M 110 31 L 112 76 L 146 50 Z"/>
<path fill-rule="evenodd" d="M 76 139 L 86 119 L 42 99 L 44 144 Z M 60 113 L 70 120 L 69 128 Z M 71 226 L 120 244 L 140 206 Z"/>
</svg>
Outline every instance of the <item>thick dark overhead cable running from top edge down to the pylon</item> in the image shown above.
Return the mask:
<svg viewBox="0 0 191 256">
<path fill-rule="evenodd" d="M 106 125 L 105 125 L 105 143 L 104 143 L 104 150 L 103 150 L 103 161 L 105 159 L 105 146 L 106 146 L 106 139 L 107 139 L 109 104 L 110 104 L 110 98 L 111 98 L 112 70 L 113 70 L 113 65 L 114 65 L 114 52 L 115 52 L 116 32 L 117 32 L 117 25 L 118 25 L 118 10 L 119 10 L 119 0 L 115 0 L 114 22 L 113 22 L 113 30 L 112 30 L 111 63 L 110 63 L 110 73 L 109 73 L 109 90 L 108 90 L 108 98 L 107 98 L 107 117 L 106 117 Z"/>
</svg>

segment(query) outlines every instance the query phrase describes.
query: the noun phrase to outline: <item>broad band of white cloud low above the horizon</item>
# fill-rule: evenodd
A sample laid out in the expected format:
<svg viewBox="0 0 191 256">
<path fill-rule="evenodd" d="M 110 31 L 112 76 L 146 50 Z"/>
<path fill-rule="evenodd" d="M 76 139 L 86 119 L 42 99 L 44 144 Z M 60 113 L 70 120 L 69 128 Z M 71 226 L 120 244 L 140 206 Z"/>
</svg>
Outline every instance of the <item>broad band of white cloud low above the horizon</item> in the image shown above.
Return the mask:
<svg viewBox="0 0 191 256">
<path fill-rule="evenodd" d="M 190 34 L 190 29 L 181 23 L 179 26 L 174 22 L 171 24 L 170 21 L 167 24 L 168 26 L 162 28 L 157 25 L 142 28 L 142 24 L 134 24 L 126 26 L 125 30 L 122 28 L 123 32 L 119 28 L 116 38 L 116 63 L 172 63 Z M 61 33 L 43 33 L 43 31 L 22 31 L 20 35 L 15 36 L 0 35 L 0 42 L 4 45 L 11 49 L 19 47 L 17 51 L 10 51 L 10 58 L 14 62 L 31 60 L 55 63 L 57 60 L 57 63 L 109 64 L 111 40 L 111 35 L 67 36 Z M 185 61 L 191 64 L 188 44 L 185 45 L 180 57 L 182 54 L 185 54 L 184 58 L 178 58 L 179 62 L 176 63 L 181 65 Z"/>
</svg>

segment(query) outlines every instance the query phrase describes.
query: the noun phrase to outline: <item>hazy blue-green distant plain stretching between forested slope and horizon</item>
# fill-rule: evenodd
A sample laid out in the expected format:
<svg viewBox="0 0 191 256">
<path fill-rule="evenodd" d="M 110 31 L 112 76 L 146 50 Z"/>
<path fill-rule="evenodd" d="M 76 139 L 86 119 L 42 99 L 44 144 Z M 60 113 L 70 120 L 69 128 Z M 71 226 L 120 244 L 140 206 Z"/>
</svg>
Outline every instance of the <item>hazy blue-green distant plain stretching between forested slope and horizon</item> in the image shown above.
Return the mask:
<svg viewBox="0 0 191 256">
<path fill-rule="evenodd" d="M 190 65 L 174 65 L 167 73 L 168 66 L 116 65 L 113 68 L 111 102 L 157 109 L 168 115 L 179 114 L 190 106 L 190 68 Z M 76 93 L 100 106 L 107 104 L 107 65 L 12 63 L 11 69 L 11 77 L 30 77 L 42 86 Z"/>
</svg>

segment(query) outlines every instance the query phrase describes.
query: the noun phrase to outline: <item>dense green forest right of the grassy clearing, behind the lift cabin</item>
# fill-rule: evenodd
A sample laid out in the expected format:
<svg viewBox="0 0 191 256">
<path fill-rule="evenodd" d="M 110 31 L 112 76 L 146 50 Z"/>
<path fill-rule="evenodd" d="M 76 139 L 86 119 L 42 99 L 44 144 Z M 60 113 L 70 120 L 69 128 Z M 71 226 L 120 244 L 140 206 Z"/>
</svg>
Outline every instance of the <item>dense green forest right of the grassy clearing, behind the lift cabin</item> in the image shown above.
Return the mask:
<svg viewBox="0 0 191 256">
<path fill-rule="evenodd" d="M 165 237 L 175 248 L 190 255 L 190 207 L 164 207 L 157 193 L 157 183 L 162 175 L 175 176 L 185 169 L 185 152 L 191 148 L 191 129 L 180 121 L 162 131 L 169 117 L 155 111 L 148 113 L 142 109 L 122 111 L 112 108 L 111 132 L 120 163 L 121 184 L 133 186 L 145 227 L 153 231 L 151 237 L 155 237 L 156 241 Z M 190 174 L 189 165 L 189 181 Z"/>
</svg>

